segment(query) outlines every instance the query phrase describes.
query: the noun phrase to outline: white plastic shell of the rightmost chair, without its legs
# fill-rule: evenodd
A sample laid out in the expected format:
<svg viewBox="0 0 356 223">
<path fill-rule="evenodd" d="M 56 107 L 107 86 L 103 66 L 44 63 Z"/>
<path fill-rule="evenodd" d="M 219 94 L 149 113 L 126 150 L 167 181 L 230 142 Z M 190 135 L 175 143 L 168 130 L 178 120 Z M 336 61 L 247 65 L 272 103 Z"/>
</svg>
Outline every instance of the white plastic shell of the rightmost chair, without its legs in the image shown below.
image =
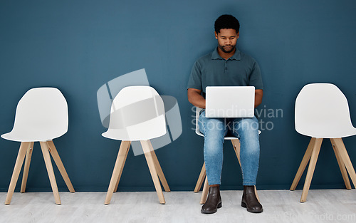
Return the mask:
<svg viewBox="0 0 356 223">
<path fill-rule="evenodd" d="M 345 95 L 331 83 L 305 85 L 295 100 L 295 130 L 313 138 L 353 135 Z"/>
</svg>

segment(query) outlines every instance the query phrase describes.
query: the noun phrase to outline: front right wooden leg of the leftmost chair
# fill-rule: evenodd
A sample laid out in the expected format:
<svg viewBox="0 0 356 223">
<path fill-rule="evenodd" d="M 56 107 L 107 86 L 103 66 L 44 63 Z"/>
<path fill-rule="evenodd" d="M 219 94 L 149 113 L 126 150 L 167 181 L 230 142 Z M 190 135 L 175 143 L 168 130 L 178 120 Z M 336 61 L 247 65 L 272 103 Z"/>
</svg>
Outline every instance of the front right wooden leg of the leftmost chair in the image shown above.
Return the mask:
<svg viewBox="0 0 356 223">
<path fill-rule="evenodd" d="M 54 176 L 51 157 L 48 151 L 49 150 L 48 145 L 46 142 L 40 142 L 40 145 L 43 154 L 43 159 L 45 160 L 49 181 L 51 182 L 54 199 L 56 200 L 56 204 L 61 204 L 61 198 L 59 197 L 56 177 Z"/>
</svg>

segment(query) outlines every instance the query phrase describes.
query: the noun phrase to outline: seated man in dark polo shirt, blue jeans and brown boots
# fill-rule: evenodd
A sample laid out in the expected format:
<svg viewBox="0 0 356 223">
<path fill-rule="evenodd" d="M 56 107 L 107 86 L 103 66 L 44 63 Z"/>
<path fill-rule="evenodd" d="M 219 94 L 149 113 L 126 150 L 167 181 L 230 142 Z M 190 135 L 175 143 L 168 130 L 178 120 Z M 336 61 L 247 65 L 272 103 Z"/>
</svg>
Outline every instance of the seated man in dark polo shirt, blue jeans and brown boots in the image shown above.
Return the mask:
<svg viewBox="0 0 356 223">
<path fill-rule="evenodd" d="M 193 105 L 205 108 L 206 86 L 254 86 L 255 108 L 261 104 L 263 83 L 260 68 L 251 56 L 236 48 L 239 28 L 239 21 L 234 16 L 222 15 L 216 19 L 215 38 L 218 40 L 218 47 L 194 63 L 189 77 L 188 100 Z M 201 207 L 201 213 L 211 214 L 221 207 L 219 185 L 223 142 L 228 132 L 239 138 L 241 144 L 240 159 L 244 185 L 241 206 L 246 207 L 248 212 L 263 212 L 254 191 L 260 153 L 256 127 L 258 127 L 256 117 L 206 118 L 205 111 L 202 110 L 199 128 L 204 134 L 204 160 L 209 195 Z"/>
</svg>

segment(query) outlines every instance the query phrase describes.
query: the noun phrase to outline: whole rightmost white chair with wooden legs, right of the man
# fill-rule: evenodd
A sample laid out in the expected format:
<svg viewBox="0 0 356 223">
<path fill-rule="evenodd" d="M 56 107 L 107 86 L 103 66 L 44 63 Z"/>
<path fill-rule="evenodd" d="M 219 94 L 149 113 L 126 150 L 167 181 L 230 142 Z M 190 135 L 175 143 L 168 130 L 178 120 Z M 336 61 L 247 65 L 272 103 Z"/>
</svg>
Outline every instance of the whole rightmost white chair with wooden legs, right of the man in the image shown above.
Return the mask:
<svg viewBox="0 0 356 223">
<path fill-rule="evenodd" d="M 356 185 L 355 170 L 341 139 L 356 135 L 356 128 L 351 123 L 347 99 L 337 86 L 331 83 L 311 83 L 300 90 L 295 100 L 295 130 L 311 137 L 290 187 L 290 190 L 295 190 L 310 160 L 300 202 L 307 199 L 323 138 L 330 138 L 346 188 L 351 189 L 347 172 Z"/>
</svg>

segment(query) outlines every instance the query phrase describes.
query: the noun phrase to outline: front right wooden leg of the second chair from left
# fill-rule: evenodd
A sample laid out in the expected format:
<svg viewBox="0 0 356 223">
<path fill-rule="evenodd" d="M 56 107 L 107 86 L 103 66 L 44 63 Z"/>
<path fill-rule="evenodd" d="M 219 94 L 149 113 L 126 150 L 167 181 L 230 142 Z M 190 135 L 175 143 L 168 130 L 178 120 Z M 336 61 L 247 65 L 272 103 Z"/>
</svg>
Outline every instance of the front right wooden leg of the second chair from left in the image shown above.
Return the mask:
<svg viewBox="0 0 356 223">
<path fill-rule="evenodd" d="M 150 149 L 150 143 L 148 141 L 149 140 L 142 140 L 140 142 L 141 142 L 141 145 L 142 145 L 143 152 L 145 152 L 147 165 L 148 165 L 148 168 L 150 169 L 150 172 L 151 172 L 151 177 L 152 177 L 153 183 L 154 183 L 155 188 L 156 188 L 156 192 L 157 192 L 157 195 L 158 195 L 158 198 L 159 198 L 159 203 L 165 204 L 166 202 L 164 200 L 161 184 L 159 183 L 159 178 L 158 178 L 157 170 L 156 170 L 156 167 L 155 167 L 155 161 L 153 160 L 152 151 Z"/>
</svg>

